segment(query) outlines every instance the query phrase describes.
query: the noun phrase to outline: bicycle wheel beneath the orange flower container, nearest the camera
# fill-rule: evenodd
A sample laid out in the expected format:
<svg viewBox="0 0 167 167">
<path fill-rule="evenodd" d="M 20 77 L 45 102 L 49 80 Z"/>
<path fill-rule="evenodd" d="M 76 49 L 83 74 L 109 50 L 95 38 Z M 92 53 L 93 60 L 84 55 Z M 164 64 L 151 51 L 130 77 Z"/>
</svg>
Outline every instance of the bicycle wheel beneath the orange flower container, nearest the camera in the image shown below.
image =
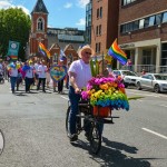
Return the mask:
<svg viewBox="0 0 167 167">
<path fill-rule="evenodd" d="M 89 140 L 91 151 L 97 155 L 101 148 L 101 130 L 98 122 L 91 122 Z"/>
</svg>

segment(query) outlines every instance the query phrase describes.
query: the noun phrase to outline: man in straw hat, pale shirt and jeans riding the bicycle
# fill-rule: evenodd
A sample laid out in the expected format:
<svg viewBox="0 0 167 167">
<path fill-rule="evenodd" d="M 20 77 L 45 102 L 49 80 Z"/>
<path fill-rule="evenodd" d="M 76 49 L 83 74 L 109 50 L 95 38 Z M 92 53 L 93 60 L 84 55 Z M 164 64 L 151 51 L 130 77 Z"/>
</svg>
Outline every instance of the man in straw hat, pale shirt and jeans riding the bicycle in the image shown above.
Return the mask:
<svg viewBox="0 0 167 167">
<path fill-rule="evenodd" d="M 84 46 L 78 51 L 79 60 L 73 61 L 68 70 L 69 75 L 69 100 L 71 104 L 71 110 L 69 116 L 69 138 L 70 141 L 78 139 L 76 131 L 76 115 L 78 114 L 78 102 L 80 100 L 80 91 L 85 88 L 88 81 L 91 79 L 90 58 L 94 55 L 94 50 L 90 46 Z"/>
</svg>

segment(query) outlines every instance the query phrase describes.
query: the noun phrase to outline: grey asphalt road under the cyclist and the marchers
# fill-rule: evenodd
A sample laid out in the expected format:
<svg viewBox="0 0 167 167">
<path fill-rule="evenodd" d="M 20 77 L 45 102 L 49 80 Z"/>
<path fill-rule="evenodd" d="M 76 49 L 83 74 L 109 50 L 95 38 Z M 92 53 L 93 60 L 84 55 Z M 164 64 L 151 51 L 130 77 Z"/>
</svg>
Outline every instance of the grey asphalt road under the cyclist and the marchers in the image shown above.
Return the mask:
<svg viewBox="0 0 167 167">
<path fill-rule="evenodd" d="M 71 145 L 65 130 L 67 90 L 12 95 L 0 85 L 0 130 L 4 149 L 0 167 L 166 167 L 167 94 L 127 89 L 130 110 L 114 110 L 114 125 L 105 125 L 98 156 L 84 135 Z"/>
</svg>

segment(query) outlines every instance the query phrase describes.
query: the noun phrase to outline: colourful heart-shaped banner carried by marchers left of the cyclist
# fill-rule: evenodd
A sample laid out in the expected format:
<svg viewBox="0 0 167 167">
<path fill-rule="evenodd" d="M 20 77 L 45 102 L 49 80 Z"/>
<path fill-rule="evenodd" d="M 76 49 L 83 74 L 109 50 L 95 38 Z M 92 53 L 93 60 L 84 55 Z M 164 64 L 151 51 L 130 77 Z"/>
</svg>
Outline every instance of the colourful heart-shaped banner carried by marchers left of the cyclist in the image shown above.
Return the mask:
<svg viewBox="0 0 167 167">
<path fill-rule="evenodd" d="M 67 75 L 66 66 L 53 65 L 50 68 L 50 76 L 51 76 L 52 80 L 56 82 L 62 80 L 66 77 L 66 75 Z"/>
</svg>

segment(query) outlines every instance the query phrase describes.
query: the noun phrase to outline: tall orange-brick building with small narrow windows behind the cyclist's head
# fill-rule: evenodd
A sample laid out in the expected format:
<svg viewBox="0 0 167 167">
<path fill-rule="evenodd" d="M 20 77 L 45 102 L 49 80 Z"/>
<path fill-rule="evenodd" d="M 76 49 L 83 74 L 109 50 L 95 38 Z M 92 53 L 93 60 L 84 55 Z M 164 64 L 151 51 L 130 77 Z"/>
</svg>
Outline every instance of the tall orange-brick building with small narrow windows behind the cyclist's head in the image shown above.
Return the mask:
<svg viewBox="0 0 167 167">
<path fill-rule="evenodd" d="M 92 0 L 91 47 L 97 56 L 106 53 L 118 36 L 118 0 Z"/>
</svg>

